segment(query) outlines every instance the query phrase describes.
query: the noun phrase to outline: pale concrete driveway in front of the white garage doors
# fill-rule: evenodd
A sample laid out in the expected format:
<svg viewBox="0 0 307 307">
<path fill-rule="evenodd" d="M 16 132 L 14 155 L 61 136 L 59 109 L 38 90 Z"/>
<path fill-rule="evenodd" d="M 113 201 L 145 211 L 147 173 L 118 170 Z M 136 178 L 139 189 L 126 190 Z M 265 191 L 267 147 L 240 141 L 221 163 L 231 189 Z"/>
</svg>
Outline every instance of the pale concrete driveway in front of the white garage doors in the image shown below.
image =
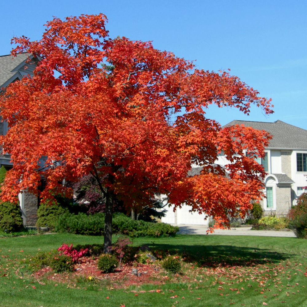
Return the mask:
<svg viewBox="0 0 307 307">
<path fill-rule="evenodd" d="M 175 225 L 180 229 L 180 234 L 189 235 L 205 235 L 208 230 L 208 226 L 203 225 Z M 216 229 L 214 233 L 209 235 L 258 235 L 269 237 L 291 237 L 295 238 L 295 234 L 292 230 L 289 231 L 274 231 L 274 230 L 251 230 L 251 227 L 231 227 L 231 229 Z"/>
</svg>

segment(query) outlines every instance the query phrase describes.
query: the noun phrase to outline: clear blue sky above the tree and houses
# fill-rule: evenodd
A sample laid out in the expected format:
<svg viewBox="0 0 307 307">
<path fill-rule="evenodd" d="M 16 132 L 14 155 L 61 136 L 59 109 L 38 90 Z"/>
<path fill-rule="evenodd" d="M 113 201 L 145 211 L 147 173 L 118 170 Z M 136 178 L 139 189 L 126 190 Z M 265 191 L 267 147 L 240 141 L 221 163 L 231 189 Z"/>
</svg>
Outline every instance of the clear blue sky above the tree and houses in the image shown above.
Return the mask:
<svg viewBox="0 0 307 307">
<path fill-rule="evenodd" d="M 277 119 L 307 129 L 307 1 L 172 1 L 172 0 L 0 0 L 0 55 L 9 54 L 10 39 L 40 39 L 46 21 L 103 13 L 110 37 L 153 41 L 196 67 L 231 69 L 260 95 L 272 98 L 274 114 L 252 108 L 210 108 L 209 118 L 222 125 L 233 119 L 273 122 Z"/>
</svg>

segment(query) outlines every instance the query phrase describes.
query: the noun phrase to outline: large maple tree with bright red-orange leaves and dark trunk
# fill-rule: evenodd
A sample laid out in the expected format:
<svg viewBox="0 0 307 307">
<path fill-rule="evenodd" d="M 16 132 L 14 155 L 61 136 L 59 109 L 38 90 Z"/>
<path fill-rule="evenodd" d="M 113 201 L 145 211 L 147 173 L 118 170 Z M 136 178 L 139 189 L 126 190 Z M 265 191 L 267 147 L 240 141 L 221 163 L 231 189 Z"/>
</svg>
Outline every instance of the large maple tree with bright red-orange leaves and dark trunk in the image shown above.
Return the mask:
<svg viewBox="0 0 307 307">
<path fill-rule="evenodd" d="M 229 72 L 196 69 L 151 42 L 108 38 L 106 16 L 54 18 L 40 41 L 13 39 L 12 55 L 29 52 L 39 59 L 34 76 L 10 84 L 0 98 L 8 122 L 1 138 L 13 169 L 2 199 L 21 190 L 42 198 L 71 193 L 63 179 L 91 174 L 106 198 L 105 250 L 111 244 L 112 203 L 142 207 L 156 193 L 169 203 L 213 216 L 217 226 L 244 214 L 262 196 L 263 168 L 245 150 L 264 157 L 270 136 L 244 126 L 222 128 L 206 118 L 211 104 L 250 105 L 272 113 L 258 96 Z M 224 154 L 226 166 L 215 164 Z M 192 165 L 200 175 L 188 177 Z"/>
</svg>

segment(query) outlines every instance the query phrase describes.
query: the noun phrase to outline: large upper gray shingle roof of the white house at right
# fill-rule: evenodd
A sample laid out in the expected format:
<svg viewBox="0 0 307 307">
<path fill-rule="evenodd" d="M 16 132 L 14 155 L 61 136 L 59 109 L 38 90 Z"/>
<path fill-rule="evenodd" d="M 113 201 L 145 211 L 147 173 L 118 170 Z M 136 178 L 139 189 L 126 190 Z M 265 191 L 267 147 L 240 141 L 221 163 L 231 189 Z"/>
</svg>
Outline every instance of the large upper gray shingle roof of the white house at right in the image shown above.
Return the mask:
<svg viewBox="0 0 307 307">
<path fill-rule="evenodd" d="M 273 138 L 270 140 L 269 149 L 307 149 L 307 130 L 287 124 L 281 120 L 276 122 L 251 122 L 233 120 L 225 126 L 244 125 L 258 130 L 269 132 Z"/>
</svg>

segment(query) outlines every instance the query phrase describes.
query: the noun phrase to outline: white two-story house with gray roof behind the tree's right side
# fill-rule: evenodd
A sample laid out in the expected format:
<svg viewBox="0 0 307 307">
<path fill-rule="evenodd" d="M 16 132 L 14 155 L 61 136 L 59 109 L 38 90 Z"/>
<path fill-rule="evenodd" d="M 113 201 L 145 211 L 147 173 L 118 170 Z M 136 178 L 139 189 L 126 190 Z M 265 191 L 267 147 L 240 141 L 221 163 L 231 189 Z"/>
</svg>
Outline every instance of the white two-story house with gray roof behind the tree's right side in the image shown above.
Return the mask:
<svg viewBox="0 0 307 307">
<path fill-rule="evenodd" d="M 289 125 L 277 120 L 276 122 L 252 122 L 234 120 L 226 126 L 244 125 L 258 130 L 266 130 L 272 135 L 270 145 L 265 149 L 265 158 L 259 163 L 264 166 L 267 173 L 264 178 L 266 198 L 261 205 L 266 215 L 274 214 L 284 216 L 296 199 L 303 192 L 307 192 L 307 130 Z M 227 164 L 221 155 L 216 162 Z M 196 169 L 192 169 L 197 173 Z M 198 170 L 199 171 L 199 170 Z M 208 219 L 197 212 L 189 212 L 189 207 L 183 205 L 181 209 L 173 212 L 173 207 L 162 222 L 174 224 L 200 224 L 207 225 Z"/>
</svg>

